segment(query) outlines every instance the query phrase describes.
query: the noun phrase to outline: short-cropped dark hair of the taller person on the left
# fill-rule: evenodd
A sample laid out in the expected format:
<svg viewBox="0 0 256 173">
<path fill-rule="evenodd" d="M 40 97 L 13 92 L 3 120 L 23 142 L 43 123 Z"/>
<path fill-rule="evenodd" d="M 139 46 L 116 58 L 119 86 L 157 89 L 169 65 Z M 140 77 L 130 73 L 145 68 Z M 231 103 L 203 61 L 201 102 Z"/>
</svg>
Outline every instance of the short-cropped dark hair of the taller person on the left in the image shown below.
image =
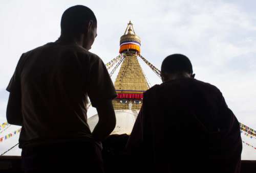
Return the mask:
<svg viewBox="0 0 256 173">
<path fill-rule="evenodd" d="M 93 26 L 97 27 L 97 19 L 90 8 L 82 5 L 68 8 L 61 17 L 61 35 L 82 34 L 90 20 L 93 21 Z"/>
</svg>

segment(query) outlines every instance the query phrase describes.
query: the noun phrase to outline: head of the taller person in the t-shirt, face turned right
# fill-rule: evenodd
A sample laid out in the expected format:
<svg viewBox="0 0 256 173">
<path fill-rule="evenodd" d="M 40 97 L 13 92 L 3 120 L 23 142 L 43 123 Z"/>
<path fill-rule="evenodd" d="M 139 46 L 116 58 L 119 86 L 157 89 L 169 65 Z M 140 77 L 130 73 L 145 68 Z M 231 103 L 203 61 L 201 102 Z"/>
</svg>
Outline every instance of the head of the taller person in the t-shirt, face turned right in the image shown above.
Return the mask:
<svg viewBox="0 0 256 173">
<path fill-rule="evenodd" d="M 97 19 L 90 8 L 77 5 L 62 14 L 60 28 L 60 38 L 82 39 L 82 46 L 90 50 L 97 36 Z"/>
</svg>

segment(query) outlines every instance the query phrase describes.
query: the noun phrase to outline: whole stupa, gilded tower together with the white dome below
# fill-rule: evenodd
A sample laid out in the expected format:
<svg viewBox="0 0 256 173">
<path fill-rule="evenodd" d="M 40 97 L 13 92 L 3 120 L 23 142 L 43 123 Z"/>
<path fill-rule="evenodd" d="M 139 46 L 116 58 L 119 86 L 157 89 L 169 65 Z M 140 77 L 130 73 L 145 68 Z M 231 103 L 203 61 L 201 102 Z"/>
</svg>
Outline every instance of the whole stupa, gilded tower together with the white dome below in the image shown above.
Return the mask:
<svg viewBox="0 0 256 173">
<path fill-rule="evenodd" d="M 113 68 L 110 76 L 121 65 L 114 84 L 118 96 L 113 100 L 116 127 L 111 134 L 130 134 L 132 132 L 134 122 L 142 106 L 143 92 L 149 88 L 138 61 L 138 57 L 143 59 L 140 55 L 140 45 L 141 40 L 135 34 L 133 24 L 130 21 L 124 35 L 120 38 L 120 55 L 106 64 L 107 69 Z M 113 67 L 115 64 L 116 66 Z M 97 122 L 98 114 L 88 119 L 91 131 Z"/>
</svg>

